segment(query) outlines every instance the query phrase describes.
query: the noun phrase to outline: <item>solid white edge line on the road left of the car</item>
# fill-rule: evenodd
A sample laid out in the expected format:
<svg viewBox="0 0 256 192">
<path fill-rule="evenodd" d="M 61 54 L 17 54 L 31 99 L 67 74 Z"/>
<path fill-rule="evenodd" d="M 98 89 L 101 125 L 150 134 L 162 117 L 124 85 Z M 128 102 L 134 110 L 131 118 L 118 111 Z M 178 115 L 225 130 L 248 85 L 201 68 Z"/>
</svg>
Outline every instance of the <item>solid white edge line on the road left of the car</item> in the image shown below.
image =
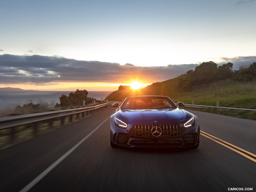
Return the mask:
<svg viewBox="0 0 256 192">
<path fill-rule="evenodd" d="M 110 115 L 111 116 L 111 115 Z M 54 167 L 56 167 L 63 159 L 65 159 L 70 153 L 72 153 L 79 145 L 81 145 L 88 137 L 90 137 L 103 123 L 109 120 L 110 116 L 104 120 L 98 127 L 91 131 L 86 137 L 84 137 L 81 141 L 79 141 L 75 146 L 73 146 L 67 153 L 62 155 L 56 162 L 54 162 L 50 167 L 45 169 L 40 175 L 38 175 L 33 181 L 31 181 L 27 186 L 25 186 L 19 192 L 27 192 L 34 185 L 36 185 L 44 176 L 46 176 Z"/>
</svg>

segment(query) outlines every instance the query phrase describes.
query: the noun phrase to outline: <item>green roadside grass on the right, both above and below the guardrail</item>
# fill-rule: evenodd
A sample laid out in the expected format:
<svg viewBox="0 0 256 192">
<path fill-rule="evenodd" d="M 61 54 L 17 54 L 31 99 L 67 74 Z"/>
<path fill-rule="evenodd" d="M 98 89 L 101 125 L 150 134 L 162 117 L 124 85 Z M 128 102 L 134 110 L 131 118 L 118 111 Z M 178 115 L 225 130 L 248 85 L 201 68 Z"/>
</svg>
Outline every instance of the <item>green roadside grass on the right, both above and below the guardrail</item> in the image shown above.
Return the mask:
<svg viewBox="0 0 256 192">
<path fill-rule="evenodd" d="M 218 101 L 220 107 L 256 109 L 256 82 L 220 81 L 180 95 L 182 96 L 179 99 L 174 98 L 174 102 L 179 100 L 185 104 L 192 104 L 194 101 L 195 105 L 217 106 Z M 192 107 L 184 109 L 256 120 L 255 111 Z"/>
</svg>

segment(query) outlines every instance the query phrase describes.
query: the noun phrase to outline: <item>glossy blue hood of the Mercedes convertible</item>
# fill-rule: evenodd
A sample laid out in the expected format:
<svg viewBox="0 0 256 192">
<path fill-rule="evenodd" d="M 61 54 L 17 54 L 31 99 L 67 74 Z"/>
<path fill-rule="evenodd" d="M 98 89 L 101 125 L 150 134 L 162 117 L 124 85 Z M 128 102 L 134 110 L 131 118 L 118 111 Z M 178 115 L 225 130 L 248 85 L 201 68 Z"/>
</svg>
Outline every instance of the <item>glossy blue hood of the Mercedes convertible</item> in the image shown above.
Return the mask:
<svg viewBox="0 0 256 192">
<path fill-rule="evenodd" d="M 123 117 L 128 121 L 181 121 L 184 119 L 184 113 L 177 109 L 152 109 L 152 110 L 127 110 L 122 109 Z"/>
</svg>

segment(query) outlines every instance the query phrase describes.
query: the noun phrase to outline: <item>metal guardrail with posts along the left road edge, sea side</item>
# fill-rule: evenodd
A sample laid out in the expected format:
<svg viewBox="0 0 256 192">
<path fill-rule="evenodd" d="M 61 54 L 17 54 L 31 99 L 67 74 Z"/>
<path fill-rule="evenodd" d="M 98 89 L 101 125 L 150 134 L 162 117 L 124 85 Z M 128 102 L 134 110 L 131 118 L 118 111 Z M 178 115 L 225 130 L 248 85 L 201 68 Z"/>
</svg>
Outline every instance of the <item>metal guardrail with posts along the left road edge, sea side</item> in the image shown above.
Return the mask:
<svg viewBox="0 0 256 192">
<path fill-rule="evenodd" d="M 21 125 L 26 125 L 26 124 L 31 124 L 31 123 L 35 123 L 35 127 L 37 127 L 37 126 L 40 126 L 39 124 L 37 124 L 38 122 L 42 122 L 45 120 L 53 120 L 56 118 L 60 118 L 61 124 L 64 124 L 65 116 L 69 116 L 70 117 L 69 121 L 71 122 L 72 116 L 74 114 L 77 114 L 77 118 L 79 118 L 80 113 L 82 114 L 82 116 L 84 116 L 84 113 L 87 112 L 87 115 L 88 115 L 90 111 L 94 112 L 95 110 L 99 110 L 100 108 L 106 107 L 108 104 L 109 103 L 107 102 L 107 103 L 90 106 L 90 107 L 4 117 L 4 118 L 0 118 L 0 130 L 17 127 Z M 49 124 L 51 127 L 51 121 L 49 121 Z"/>
</svg>

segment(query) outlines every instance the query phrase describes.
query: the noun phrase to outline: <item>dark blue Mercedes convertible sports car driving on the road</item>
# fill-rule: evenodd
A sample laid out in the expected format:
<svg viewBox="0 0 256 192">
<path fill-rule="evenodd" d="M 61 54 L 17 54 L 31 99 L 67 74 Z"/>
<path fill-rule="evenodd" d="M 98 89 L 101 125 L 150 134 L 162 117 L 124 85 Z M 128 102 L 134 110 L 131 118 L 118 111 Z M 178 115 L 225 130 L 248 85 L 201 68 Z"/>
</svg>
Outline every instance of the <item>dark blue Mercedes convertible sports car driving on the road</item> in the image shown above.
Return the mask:
<svg viewBox="0 0 256 192">
<path fill-rule="evenodd" d="M 127 97 L 110 118 L 112 147 L 199 146 L 200 128 L 195 115 L 165 96 Z"/>
</svg>

